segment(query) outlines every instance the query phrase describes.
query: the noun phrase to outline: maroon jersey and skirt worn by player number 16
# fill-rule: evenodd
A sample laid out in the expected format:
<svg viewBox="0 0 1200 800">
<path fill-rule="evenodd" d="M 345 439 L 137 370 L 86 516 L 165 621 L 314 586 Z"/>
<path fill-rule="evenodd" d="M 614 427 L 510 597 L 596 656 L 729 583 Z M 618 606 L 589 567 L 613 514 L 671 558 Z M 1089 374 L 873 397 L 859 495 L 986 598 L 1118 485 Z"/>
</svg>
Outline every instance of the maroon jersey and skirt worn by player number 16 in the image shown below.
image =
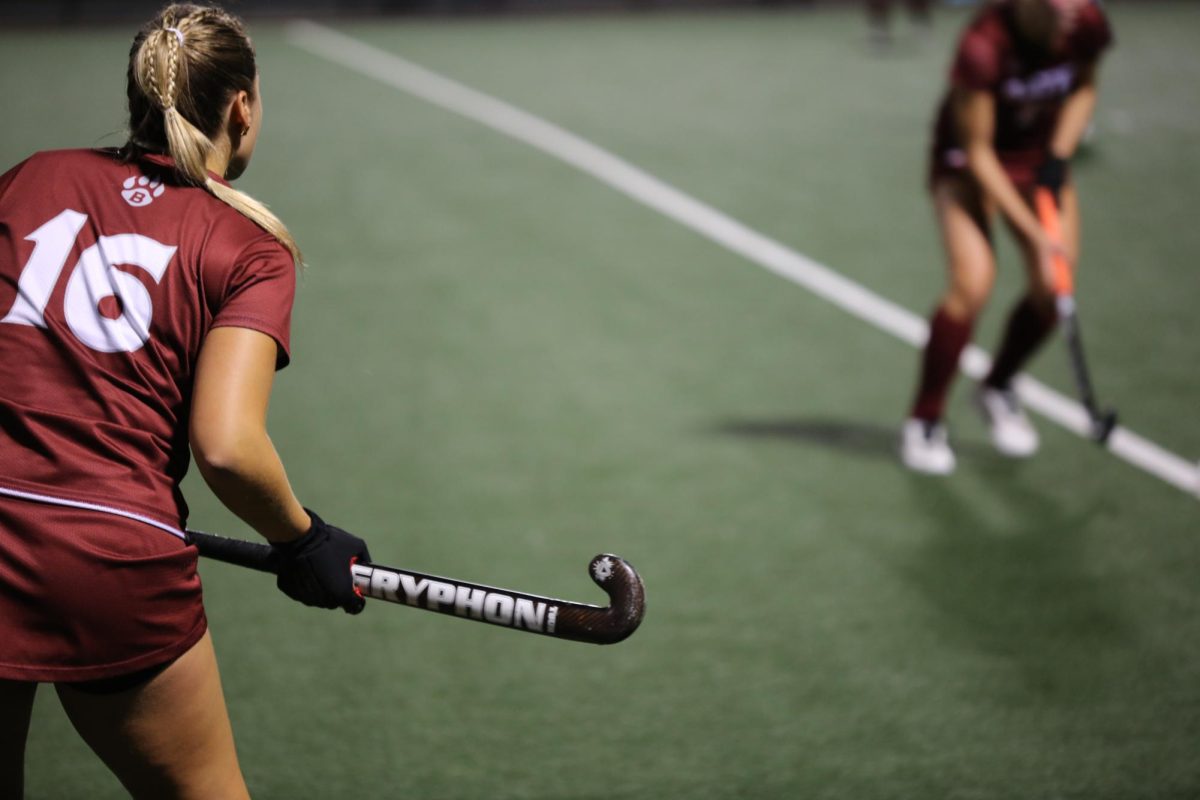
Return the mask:
<svg viewBox="0 0 1200 800">
<path fill-rule="evenodd" d="M 0 678 L 121 674 L 203 634 L 179 492 L 197 356 L 230 325 L 283 366 L 294 290 L 288 251 L 164 157 L 0 176 Z"/>
</svg>

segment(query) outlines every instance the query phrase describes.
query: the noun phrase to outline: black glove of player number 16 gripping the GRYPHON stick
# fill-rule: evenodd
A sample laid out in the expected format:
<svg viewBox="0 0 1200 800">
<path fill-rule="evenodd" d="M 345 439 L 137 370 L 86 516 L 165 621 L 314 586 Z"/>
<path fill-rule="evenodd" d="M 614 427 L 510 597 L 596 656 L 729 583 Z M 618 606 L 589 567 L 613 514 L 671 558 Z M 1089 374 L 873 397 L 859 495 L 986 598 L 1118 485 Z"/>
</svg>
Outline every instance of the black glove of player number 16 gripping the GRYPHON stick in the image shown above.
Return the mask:
<svg viewBox="0 0 1200 800">
<path fill-rule="evenodd" d="M 342 608 L 347 614 L 358 614 L 366 601 L 354 585 L 350 565 L 371 560 L 367 545 L 358 536 L 326 524 L 312 511 L 308 516 L 312 517 L 312 528 L 307 534 L 292 542 L 271 545 L 280 554 L 275 585 L 305 606 Z"/>
</svg>

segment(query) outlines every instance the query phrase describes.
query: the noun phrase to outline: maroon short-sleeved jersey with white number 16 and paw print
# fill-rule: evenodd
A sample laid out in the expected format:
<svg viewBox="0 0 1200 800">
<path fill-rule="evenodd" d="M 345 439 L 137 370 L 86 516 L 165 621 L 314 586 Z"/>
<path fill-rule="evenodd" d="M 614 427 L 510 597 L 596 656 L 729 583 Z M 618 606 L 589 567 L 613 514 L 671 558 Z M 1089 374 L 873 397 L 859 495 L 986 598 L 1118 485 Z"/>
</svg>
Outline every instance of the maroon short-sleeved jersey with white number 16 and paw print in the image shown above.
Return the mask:
<svg viewBox="0 0 1200 800">
<path fill-rule="evenodd" d="M 192 374 L 214 327 L 288 360 L 295 266 L 170 161 L 41 152 L 0 176 L 0 495 L 182 535 Z"/>
</svg>

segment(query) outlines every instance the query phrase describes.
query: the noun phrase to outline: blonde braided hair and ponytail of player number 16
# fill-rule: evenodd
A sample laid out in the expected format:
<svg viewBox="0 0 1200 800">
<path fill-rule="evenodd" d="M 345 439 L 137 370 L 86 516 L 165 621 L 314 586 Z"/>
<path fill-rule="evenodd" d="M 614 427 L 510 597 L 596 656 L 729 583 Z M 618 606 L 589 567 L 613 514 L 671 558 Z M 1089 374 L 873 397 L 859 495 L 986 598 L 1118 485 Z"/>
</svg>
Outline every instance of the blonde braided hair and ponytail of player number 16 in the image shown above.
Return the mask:
<svg viewBox="0 0 1200 800">
<path fill-rule="evenodd" d="M 241 23 L 217 8 L 176 4 L 138 35 L 130 55 L 130 154 L 166 145 L 184 182 L 232 206 L 302 264 L 295 239 L 266 205 L 214 180 L 208 170 L 216 149 L 211 137 L 224 122 L 229 97 L 254 91 L 254 52 Z M 157 114 L 161 126 L 151 119 Z M 154 142 L 160 138 L 163 142 Z"/>
</svg>

